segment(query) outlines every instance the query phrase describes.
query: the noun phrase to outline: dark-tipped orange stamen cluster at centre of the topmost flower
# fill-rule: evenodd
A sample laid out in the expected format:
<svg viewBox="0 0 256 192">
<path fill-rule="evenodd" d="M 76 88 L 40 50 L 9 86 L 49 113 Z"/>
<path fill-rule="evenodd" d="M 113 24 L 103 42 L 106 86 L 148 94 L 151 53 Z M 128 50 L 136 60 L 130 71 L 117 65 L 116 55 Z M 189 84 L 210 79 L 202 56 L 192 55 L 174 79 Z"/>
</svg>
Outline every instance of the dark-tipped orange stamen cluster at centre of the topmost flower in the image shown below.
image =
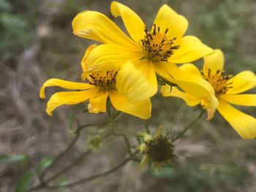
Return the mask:
<svg viewBox="0 0 256 192">
<path fill-rule="evenodd" d="M 171 55 L 173 55 L 174 50 L 178 50 L 178 45 L 176 45 L 176 37 L 173 39 L 167 39 L 166 34 L 169 31 L 168 28 L 165 29 L 165 33 L 160 33 L 160 27 L 153 25 L 153 30 L 148 31 L 145 27 L 145 37 L 141 39 L 141 45 L 143 50 L 145 50 L 146 57 L 151 61 L 167 61 Z"/>
</svg>

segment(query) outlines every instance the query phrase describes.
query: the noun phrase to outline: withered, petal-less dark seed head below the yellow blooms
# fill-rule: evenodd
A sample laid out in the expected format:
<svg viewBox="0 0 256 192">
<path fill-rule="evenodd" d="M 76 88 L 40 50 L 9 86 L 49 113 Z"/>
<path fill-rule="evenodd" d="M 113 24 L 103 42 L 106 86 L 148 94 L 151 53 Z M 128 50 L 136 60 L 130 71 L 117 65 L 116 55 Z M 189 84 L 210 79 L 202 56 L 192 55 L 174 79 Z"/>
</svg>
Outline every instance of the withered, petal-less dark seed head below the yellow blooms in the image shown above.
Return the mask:
<svg viewBox="0 0 256 192">
<path fill-rule="evenodd" d="M 144 154 L 140 167 L 153 163 L 155 169 L 160 166 L 171 163 L 173 159 L 173 143 L 167 135 L 162 134 L 163 128 L 160 126 L 157 133 L 152 137 L 146 132 L 140 133 L 144 142 L 138 146 L 141 154 Z"/>
</svg>

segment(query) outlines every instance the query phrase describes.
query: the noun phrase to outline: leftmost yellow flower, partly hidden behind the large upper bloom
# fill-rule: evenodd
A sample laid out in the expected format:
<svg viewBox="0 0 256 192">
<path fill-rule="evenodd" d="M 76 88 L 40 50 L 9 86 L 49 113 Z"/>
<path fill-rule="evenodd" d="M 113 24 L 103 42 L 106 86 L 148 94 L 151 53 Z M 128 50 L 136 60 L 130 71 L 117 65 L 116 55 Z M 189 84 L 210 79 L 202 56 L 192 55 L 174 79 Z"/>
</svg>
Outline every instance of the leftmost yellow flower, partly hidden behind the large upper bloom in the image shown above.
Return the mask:
<svg viewBox="0 0 256 192">
<path fill-rule="evenodd" d="M 124 65 L 132 72 L 132 75 L 138 77 L 140 81 L 140 74 L 135 67 L 127 63 Z M 110 98 L 113 107 L 116 110 L 126 112 L 136 117 L 147 119 L 151 117 L 151 101 L 146 99 L 135 103 L 129 103 L 127 97 L 119 93 L 116 88 L 116 84 L 121 75 L 125 72 L 119 72 L 118 70 L 111 70 L 101 73 L 88 74 L 86 79 L 89 83 L 85 82 L 70 82 L 66 80 L 50 79 L 42 85 L 39 96 L 45 99 L 45 88 L 52 86 L 59 86 L 61 88 L 67 88 L 76 91 L 59 92 L 53 94 L 47 104 L 46 112 L 48 115 L 52 115 L 52 111 L 62 104 L 78 104 L 83 101 L 89 100 L 88 109 L 89 112 L 98 113 L 106 111 L 106 101 L 108 96 Z M 79 91 L 77 91 L 79 90 Z"/>
</svg>

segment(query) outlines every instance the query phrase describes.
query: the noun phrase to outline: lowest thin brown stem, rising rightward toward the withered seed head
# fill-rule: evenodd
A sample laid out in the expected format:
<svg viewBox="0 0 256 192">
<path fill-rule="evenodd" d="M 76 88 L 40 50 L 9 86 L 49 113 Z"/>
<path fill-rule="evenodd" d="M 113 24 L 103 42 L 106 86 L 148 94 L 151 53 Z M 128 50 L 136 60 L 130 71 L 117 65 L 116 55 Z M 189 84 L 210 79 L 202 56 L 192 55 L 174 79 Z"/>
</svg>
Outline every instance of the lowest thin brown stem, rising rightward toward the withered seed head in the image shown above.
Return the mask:
<svg viewBox="0 0 256 192">
<path fill-rule="evenodd" d="M 107 172 L 103 172 L 101 174 L 94 174 L 93 176 L 91 177 L 86 177 L 84 179 L 81 179 L 81 180 L 78 180 L 78 181 L 75 181 L 74 183 L 69 183 L 67 185 L 55 185 L 55 186 L 47 186 L 47 188 L 49 189 L 56 189 L 56 188 L 72 188 L 73 186 L 75 185 L 79 185 L 81 183 L 87 183 L 91 180 L 96 180 L 100 177 L 104 177 L 108 174 L 111 174 L 113 172 L 116 172 L 118 169 L 120 169 L 122 166 L 124 166 L 125 164 L 127 164 L 129 161 L 131 161 L 132 159 L 131 158 L 126 158 L 124 159 L 124 161 L 122 161 L 120 164 L 118 164 L 117 166 L 114 166 L 112 169 L 109 169 Z"/>
</svg>

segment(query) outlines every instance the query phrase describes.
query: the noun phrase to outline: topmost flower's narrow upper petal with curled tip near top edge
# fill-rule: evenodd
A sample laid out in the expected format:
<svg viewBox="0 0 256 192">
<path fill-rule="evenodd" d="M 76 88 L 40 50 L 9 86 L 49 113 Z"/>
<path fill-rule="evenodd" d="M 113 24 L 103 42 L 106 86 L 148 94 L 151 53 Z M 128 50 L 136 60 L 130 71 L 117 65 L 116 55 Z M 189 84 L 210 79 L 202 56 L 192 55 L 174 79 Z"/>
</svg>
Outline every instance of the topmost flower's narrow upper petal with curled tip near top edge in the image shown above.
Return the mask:
<svg viewBox="0 0 256 192">
<path fill-rule="evenodd" d="M 140 17 L 132 11 L 132 9 L 129 9 L 129 7 L 124 4 L 113 1 L 111 4 L 111 12 L 116 18 L 121 16 L 129 35 L 135 40 L 135 42 L 138 43 L 140 42 L 140 39 L 143 39 L 145 36 L 145 24 Z"/>
</svg>

